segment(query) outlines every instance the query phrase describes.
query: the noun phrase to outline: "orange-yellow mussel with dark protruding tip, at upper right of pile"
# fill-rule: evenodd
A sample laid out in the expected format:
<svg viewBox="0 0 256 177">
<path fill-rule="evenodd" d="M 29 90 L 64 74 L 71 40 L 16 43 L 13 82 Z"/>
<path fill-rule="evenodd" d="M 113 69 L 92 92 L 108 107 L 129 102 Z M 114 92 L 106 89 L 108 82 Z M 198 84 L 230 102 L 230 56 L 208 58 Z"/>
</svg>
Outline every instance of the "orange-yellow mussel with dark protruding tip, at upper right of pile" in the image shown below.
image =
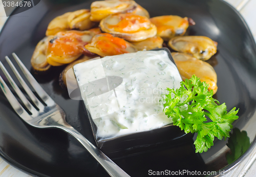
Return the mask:
<svg viewBox="0 0 256 177">
<path fill-rule="evenodd" d="M 183 36 L 190 25 L 196 24 L 191 18 L 164 15 L 150 19 L 157 26 L 157 35 L 168 41 L 175 36 Z"/>
</svg>

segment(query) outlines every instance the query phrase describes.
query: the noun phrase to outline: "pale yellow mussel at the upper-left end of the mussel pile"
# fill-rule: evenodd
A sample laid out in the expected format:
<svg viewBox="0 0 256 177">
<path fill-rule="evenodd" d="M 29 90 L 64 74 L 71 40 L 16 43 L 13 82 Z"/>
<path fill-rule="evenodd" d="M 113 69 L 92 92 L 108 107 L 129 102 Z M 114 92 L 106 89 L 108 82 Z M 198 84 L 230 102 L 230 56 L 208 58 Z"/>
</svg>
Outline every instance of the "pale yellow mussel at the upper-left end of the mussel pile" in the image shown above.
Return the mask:
<svg viewBox="0 0 256 177">
<path fill-rule="evenodd" d="M 46 36 L 55 35 L 61 31 L 69 30 L 68 17 L 72 12 L 67 12 L 63 15 L 57 16 L 49 24 L 46 31 Z"/>
</svg>

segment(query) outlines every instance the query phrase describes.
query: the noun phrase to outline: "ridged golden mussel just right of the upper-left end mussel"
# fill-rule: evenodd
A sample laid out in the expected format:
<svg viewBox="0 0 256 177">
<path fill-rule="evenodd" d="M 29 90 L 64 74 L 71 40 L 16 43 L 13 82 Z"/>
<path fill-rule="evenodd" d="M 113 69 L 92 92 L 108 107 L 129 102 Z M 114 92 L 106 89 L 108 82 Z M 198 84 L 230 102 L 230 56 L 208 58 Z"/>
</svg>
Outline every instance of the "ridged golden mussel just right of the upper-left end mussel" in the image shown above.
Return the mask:
<svg viewBox="0 0 256 177">
<path fill-rule="evenodd" d="M 89 30 L 94 27 L 97 23 L 90 20 L 90 10 L 89 9 L 81 9 L 75 12 L 72 12 L 68 16 L 68 23 L 70 29 L 78 29 L 78 30 Z"/>
</svg>

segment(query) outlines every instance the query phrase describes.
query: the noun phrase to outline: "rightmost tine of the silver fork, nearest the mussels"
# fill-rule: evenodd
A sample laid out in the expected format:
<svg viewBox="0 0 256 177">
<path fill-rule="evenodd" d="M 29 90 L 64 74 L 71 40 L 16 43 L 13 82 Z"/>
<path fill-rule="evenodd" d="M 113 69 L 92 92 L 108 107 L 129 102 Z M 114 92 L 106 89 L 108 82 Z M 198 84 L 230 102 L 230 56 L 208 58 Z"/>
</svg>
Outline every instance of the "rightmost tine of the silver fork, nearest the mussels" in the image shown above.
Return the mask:
<svg viewBox="0 0 256 177">
<path fill-rule="evenodd" d="M 29 70 L 24 66 L 22 61 L 20 61 L 18 56 L 15 53 L 12 53 L 12 56 L 18 63 L 18 66 L 20 67 L 20 69 L 22 70 L 25 77 L 27 78 L 27 80 L 29 81 L 31 86 L 34 88 L 36 93 L 39 95 L 39 97 L 47 104 L 47 106 L 55 105 L 54 100 L 46 93 L 46 91 L 44 89 L 42 89 L 42 87 L 38 84 L 38 82 L 35 80 L 35 78 L 32 76 L 32 74 L 29 72 Z"/>
</svg>

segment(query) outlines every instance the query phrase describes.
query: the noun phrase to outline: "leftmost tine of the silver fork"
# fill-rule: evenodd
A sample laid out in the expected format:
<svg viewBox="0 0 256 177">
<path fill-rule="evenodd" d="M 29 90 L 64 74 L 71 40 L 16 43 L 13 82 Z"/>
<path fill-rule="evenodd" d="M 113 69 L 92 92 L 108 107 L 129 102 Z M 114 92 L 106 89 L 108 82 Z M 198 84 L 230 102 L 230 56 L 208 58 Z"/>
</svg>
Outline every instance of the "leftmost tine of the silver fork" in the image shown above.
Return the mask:
<svg viewBox="0 0 256 177">
<path fill-rule="evenodd" d="M 6 85 L 5 81 L 0 75 L 0 86 L 3 90 L 6 98 L 8 99 L 9 103 L 11 104 L 12 108 L 15 110 L 15 112 L 22 117 L 24 120 L 31 120 L 32 117 L 28 114 L 28 112 L 18 103 L 18 100 L 15 98 L 15 96 L 12 94 L 11 90 Z"/>
</svg>

